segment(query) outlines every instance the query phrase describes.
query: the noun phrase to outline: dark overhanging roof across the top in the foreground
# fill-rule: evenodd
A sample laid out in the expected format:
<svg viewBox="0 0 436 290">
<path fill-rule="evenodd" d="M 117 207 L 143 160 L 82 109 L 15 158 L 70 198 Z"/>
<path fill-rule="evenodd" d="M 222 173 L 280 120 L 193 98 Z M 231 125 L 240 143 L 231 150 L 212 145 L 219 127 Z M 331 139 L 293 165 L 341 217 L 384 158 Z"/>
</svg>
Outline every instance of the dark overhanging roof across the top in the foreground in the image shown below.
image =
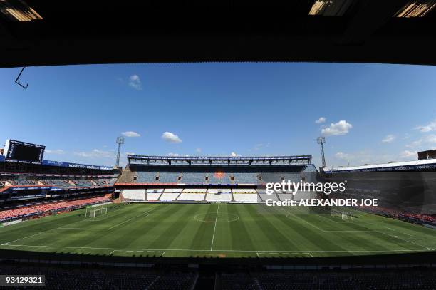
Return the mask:
<svg viewBox="0 0 436 290">
<path fill-rule="evenodd" d="M 435 64 L 435 0 L 0 1 L 0 68 L 83 63 Z"/>
</svg>

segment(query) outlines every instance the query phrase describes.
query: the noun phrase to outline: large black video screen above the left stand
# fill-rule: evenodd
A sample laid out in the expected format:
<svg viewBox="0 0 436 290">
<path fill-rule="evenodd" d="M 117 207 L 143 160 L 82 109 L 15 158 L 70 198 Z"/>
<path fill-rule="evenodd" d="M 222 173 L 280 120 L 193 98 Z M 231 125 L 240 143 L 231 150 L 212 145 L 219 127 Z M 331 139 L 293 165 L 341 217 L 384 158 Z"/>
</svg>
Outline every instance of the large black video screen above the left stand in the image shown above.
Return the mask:
<svg viewBox="0 0 436 290">
<path fill-rule="evenodd" d="M 6 161 L 41 164 L 45 149 L 46 147 L 43 145 L 36 145 L 17 140 L 6 140 Z"/>
</svg>

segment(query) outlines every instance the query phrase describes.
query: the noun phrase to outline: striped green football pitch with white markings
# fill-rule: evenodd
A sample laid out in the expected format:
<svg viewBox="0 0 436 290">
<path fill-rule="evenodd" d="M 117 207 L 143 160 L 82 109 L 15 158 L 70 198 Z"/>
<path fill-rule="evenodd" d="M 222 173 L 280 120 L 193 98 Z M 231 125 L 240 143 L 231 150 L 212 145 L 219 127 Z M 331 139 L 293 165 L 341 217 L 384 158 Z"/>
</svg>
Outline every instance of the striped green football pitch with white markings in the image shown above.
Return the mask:
<svg viewBox="0 0 436 290">
<path fill-rule="evenodd" d="M 9 250 L 142 257 L 332 257 L 428 252 L 436 230 L 259 204 L 110 204 L 0 227 Z"/>
</svg>

